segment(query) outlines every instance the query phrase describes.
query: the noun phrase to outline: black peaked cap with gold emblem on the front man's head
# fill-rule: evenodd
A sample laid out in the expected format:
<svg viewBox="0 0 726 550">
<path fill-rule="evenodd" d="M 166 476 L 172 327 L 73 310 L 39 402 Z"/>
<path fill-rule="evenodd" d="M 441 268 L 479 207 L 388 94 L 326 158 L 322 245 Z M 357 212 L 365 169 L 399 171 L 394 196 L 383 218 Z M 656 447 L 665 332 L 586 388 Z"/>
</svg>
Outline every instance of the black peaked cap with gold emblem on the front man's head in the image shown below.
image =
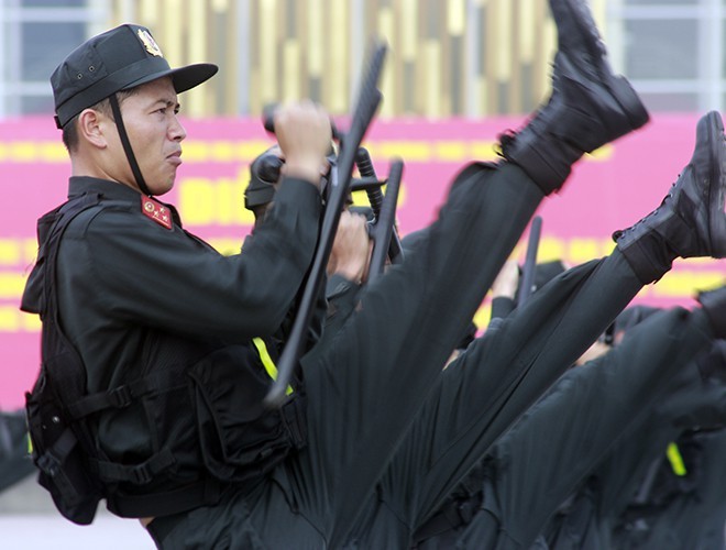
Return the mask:
<svg viewBox="0 0 726 550">
<path fill-rule="evenodd" d="M 63 128 L 84 109 L 120 90 L 170 76 L 177 94 L 211 78 L 217 65 L 170 68 L 144 26 L 124 24 L 84 42 L 51 76 L 56 125 Z"/>
</svg>

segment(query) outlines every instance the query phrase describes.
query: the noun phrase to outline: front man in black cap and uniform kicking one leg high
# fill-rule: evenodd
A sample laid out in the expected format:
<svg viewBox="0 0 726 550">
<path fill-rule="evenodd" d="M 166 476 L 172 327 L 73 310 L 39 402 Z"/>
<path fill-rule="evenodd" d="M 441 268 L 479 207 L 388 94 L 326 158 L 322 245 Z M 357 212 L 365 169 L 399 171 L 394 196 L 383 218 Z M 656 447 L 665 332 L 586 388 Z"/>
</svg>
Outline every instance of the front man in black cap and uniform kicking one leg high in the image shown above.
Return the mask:
<svg viewBox="0 0 726 550">
<path fill-rule="evenodd" d="M 262 406 L 274 365 L 256 339 L 277 331 L 310 261 L 327 118 L 309 106 L 278 116 L 288 179 L 255 246 L 222 257 L 148 197 L 168 190 L 178 166 L 176 92 L 213 68 L 169 69 L 135 25 L 64 61 L 53 77 L 56 113 L 80 139 L 79 150 L 69 147 L 70 194 L 91 205 L 62 235 L 55 290 L 62 329 L 88 373 L 90 395 L 76 409 L 96 435 L 94 470 L 109 508 L 153 517 L 148 529 L 164 548 L 339 548 L 365 538 L 367 497 L 541 199 L 584 152 L 647 121 L 627 81 L 612 74 L 584 7 L 551 6 L 561 34 L 550 101 L 504 140 L 501 164 L 473 164 L 457 177 L 416 253 L 366 287 L 341 331 L 323 333 L 302 358 L 282 410 Z M 110 112 L 97 105 L 107 98 Z M 669 208 L 681 216 L 679 200 Z M 585 288 L 597 287 L 598 275 L 619 283 L 602 317 L 578 323 L 582 341 L 672 257 L 722 252 L 703 244 L 701 224 L 712 218 L 686 218 L 683 227 L 625 232 L 606 267 L 586 282 L 571 278 Z M 653 235 L 662 242 L 649 243 Z M 647 252 L 664 249 L 670 255 L 653 267 Z M 44 284 L 54 288 L 45 267 L 38 262 L 29 280 L 26 310 L 42 312 Z M 441 415 L 455 421 L 455 410 Z M 414 441 L 408 457 L 418 462 Z M 455 446 L 442 472 L 459 475 L 471 451 Z M 447 486 L 437 483 L 433 499 Z M 377 535 L 400 540 L 392 529 Z"/>
</svg>

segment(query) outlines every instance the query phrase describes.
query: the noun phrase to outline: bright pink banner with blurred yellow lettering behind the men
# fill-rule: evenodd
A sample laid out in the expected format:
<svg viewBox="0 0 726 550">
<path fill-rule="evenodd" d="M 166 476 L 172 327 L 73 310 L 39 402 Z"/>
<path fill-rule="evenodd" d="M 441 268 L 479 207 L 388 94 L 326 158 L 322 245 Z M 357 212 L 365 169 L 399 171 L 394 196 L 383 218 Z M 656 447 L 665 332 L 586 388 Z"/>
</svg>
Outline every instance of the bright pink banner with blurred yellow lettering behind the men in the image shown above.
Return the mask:
<svg viewBox="0 0 726 550">
<path fill-rule="evenodd" d="M 609 235 L 657 207 L 691 158 L 696 116 L 660 116 L 644 130 L 588 155 L 565 188 L 544 201 L 540 261 L 578 264 L 613 248 Z M 405 162 L 398 207 L 403 234 L 429 223 L 451 177 L 470 160 L 494 161 L 497 133 L 521 119 L 473 122 L 378 121 L 366 136 L 380 176 L 388 162 Z M 187 121 L 184 165 L 165 200 L 176 204 L 185 227 L 224 253 L 240 249 L 252 223 L 244 205 L 250 162 L 271 143 L 257 120 Z M 340 128 L 345 128 L 340 121 Z M 22 405 L 38 369 L 38 320 L 19 311 L 20 296 L 36 252 L 35 220 L 65 199 L 70 165 L 52 120 L 0 123 L 0 408 Z M 356 199 L 358 200 L 358 199 Z M 363 198 L 360 198 L 363 204 Z M 496 205 L 492 206 L 496 208 Z M 515 251 L 524 256 L 526 234 Z M 678 262 L 639 301 L 654 306 L 692 304 L 696 289 L 724 282 L 723 261 Z M 477 315 L 487 322 L 487 308 Z"/>
</svg>

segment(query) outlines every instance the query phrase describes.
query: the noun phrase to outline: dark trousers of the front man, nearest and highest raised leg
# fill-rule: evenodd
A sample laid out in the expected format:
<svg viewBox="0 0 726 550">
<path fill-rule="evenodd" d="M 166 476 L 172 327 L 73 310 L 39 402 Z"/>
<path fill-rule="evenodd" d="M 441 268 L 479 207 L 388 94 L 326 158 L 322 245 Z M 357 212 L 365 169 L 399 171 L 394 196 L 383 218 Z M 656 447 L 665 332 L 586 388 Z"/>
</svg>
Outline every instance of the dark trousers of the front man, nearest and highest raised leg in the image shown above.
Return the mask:
<svg viewBox="0 0 726 550">
<path fill-rule="evenodd" d="M 256 492 L 151 532 L 164 548 L 340 548 L 543 196 L 518 167 L 453 183 L 427 238 L 302 361 L 308 447 Z M 160 520 L 161 519 L 161 520 Z"/>
</svg>

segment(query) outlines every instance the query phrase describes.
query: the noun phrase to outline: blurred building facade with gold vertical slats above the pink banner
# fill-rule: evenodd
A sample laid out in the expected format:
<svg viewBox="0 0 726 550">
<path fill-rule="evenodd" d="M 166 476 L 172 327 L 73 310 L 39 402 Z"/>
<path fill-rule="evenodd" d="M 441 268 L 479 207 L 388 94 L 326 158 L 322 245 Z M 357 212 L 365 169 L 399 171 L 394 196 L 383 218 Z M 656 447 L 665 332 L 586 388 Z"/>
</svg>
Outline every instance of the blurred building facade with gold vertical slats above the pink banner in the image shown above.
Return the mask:
<svg viewBox="0 0 726 550">
<path fill-rule="evenodd" d="M 590 4 L 649 109 L 726 108 L 726 0 Z M 124 21 L 150 26 L 172 65 L 220 65 L 190 92 L 190 116 L 254 116 L 296 97 L 344 114 L 372 35 L 391 45 L 384 117 L 524 113 L 548 92 L 548 18 L 547 0 L 0 0 L 0 118 L 52 111 L 63 56 Z"/>
</svg>

